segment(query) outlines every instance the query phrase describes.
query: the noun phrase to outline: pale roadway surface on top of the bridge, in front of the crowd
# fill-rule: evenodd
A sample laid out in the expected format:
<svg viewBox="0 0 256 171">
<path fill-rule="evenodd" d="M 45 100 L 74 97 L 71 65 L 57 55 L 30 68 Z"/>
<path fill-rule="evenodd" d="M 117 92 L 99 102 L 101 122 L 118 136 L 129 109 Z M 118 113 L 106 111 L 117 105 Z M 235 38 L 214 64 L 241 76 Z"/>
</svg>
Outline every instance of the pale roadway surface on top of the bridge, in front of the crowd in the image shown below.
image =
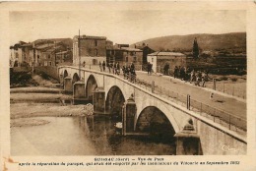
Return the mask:
<svg viewBox="0 0 256 171">
<path fill-rule="evenodd" d="M 172 77 L 156 74 L 148 76 L 146 72 L 137 72 L 137 78 L 146 81 L 147 83 L 152 83 L 152 81 L 154 81 L 155 85 L 179 94 L 189 94 L 191 99 L 203 102 L 211 107 L 221 109 L 233 116 L 246 120 L 246 102 L 217 93 L 214 93 L 213 98 L 210 99 L 211 91 L 207 88 L 185 83 L 184 81 Z"/>
</svg>

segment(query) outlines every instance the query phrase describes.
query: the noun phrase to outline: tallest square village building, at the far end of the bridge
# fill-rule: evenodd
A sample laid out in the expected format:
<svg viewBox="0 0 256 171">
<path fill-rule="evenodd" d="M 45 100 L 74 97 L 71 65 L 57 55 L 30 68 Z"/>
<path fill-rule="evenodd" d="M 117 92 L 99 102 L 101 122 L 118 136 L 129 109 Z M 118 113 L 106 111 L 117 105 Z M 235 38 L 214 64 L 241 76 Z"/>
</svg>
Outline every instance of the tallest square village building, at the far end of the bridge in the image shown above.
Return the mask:
<svg viewBox="0 0 256 171">
<path fill-rule="evenodd" d="M 73 64 L 97 65 L 106 61 L 106 46 L 111 41 L 105 36 L 75 35 L 73 38 Z"/>
</svg>

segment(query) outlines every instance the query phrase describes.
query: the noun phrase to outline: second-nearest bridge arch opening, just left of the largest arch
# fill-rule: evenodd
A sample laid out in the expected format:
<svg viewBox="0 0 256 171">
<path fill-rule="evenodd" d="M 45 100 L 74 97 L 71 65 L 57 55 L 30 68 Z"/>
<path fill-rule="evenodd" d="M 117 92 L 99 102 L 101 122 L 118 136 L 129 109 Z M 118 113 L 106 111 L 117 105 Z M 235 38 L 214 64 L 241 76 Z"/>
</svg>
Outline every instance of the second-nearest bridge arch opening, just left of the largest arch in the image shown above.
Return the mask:
<svg viewBox="0 0 256 171">
<path fill-rule="evenodd" d="M 117 86 L 113 85 L 107 92 L 105 101 L 105 111 L 107 113 L 122 118 L 122 107 L 125 102 L 125 97 L 122 90 Z"/>
</svg>

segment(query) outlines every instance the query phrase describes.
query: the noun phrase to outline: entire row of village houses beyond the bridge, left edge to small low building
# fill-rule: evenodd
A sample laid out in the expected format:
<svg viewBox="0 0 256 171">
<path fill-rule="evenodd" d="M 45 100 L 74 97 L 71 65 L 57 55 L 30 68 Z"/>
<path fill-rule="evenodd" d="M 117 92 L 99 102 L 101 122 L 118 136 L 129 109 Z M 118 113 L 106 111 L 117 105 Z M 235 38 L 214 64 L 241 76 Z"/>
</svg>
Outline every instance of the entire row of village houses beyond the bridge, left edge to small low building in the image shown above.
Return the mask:
<svg viewBox="0 0 256 171">
<path fill-rule="evenodd" d="M 178 52 L 155 51 L 149 45 L 113 44 L 105 36 L 75 35 L 71 38 L 38 39 L 10 47 L 11 66 L 58 66 L 58 65 L 98 65 L 118 62 L 120 66 L 153 64 L 153 70 L 168 63 L 185 66 L 186 55 Z"/>
</svg>

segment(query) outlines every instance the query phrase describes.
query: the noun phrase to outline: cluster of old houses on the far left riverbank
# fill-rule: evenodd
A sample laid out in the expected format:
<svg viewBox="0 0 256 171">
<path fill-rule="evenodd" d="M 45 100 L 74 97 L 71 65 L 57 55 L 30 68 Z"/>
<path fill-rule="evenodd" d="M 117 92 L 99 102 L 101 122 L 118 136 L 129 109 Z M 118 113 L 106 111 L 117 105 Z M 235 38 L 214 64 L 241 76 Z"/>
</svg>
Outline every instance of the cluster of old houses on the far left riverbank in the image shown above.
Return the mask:
<svg viewBox="0 0 256 171">
<path fill-rule="evenodd" d="M 72 63 L 72 39 L 37 39 L 33 42 L 19 41 L 10 46 L 10 66 L 56 66 Z"/>
</svg>

